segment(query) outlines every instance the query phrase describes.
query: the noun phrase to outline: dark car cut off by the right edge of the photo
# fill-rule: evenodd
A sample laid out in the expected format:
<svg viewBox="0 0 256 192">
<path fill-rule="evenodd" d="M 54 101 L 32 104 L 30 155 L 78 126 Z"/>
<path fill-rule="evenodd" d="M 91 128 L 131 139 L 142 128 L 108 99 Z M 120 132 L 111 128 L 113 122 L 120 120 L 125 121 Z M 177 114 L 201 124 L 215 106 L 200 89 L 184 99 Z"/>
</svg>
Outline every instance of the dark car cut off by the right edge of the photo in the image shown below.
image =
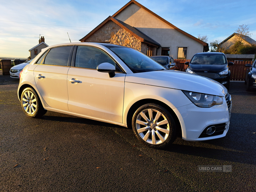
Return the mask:
<svg viewBox="0 0 256 192">
<path fill-rule="evenodd" d="M 245 84 L 246 84 L 246 91 L 251 91 L 256 89 L 256 60 L 253 64 L 245 64 L 245 67 L 250 67 L 247 69 L 246 77 L 245 77 Z"/>
</svg>

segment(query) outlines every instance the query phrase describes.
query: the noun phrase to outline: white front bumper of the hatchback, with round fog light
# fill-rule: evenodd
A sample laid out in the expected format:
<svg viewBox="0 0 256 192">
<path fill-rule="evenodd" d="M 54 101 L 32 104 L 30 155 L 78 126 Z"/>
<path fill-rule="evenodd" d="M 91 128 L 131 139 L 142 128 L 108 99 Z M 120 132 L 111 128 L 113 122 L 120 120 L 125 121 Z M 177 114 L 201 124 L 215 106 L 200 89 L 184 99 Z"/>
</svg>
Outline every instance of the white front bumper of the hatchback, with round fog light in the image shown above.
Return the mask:
<svg viewBox="0 0 256 192">
<path fill-rule="evenodd" d="M 176 108 L 174 111 L 180 119 L 182 139 L 187 141 L 204 141 L 225 137 L 230 125 L 232 109 L 231 96 L 224 99 L 222 105 L 211 108 L 199 108 L 194 104 Z M 230 102 L 227 105 L 227 100 Z M 213 134 L 206 134 L 209 127 L 215 127 Z"/>
</svg>

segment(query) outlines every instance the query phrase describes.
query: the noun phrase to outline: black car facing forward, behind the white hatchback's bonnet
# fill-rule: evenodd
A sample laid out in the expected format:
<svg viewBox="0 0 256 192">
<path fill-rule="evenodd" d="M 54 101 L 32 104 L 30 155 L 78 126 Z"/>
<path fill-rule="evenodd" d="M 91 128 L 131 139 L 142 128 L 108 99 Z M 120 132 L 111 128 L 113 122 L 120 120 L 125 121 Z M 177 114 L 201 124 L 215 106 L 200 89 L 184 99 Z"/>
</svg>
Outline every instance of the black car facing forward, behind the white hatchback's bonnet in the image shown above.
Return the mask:
<svg viewBox="0 0 256 192">
<path fill-rule="evenodd" d="M 223 84 L 227 89 L 230 87 L 230 70 L 228 66 L 233 62 L 227 63 L 226 55 L 222 52 L 201 52 L 196 53 L 190 62 L 185 62 L 189 67 L 187 73 L 214 79 Z"/>
</svg>

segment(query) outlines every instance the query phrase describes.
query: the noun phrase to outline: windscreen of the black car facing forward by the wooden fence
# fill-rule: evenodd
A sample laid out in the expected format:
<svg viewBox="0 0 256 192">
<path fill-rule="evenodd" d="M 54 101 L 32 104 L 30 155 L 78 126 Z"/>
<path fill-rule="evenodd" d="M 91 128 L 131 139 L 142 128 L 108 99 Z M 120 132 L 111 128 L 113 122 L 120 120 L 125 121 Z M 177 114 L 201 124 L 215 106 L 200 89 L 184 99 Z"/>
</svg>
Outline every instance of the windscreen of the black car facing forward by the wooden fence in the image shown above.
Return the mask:
<svg viewBox="0 0 256 192">
<path fill-rule="evenodd" d="M 200 54 L 195 55 L 190 64 L 198 64 L 198 65 L 223 65 L 227 64 L 227 59 L 224 55 L 219 54 Z"/>
</svg>

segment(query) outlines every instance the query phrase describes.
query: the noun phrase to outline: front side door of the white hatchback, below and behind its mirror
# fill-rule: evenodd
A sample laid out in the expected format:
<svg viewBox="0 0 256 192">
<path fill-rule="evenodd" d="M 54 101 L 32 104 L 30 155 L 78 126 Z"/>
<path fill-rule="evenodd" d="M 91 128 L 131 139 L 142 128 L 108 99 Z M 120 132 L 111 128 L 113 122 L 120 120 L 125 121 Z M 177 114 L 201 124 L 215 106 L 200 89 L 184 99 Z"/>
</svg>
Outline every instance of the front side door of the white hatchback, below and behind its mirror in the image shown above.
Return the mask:
<svg viewBox="0 0 256 192">
<path fill-rule="evenodd" d="M 119 71 L 113 78 L 96 70 L 104 62 L 113 64 Z M 116 62 L 99 48 L 78 46 L 73 65 L 67 74 L 70 112 L 122 122 L 125 73 Z"/>
</svg>

